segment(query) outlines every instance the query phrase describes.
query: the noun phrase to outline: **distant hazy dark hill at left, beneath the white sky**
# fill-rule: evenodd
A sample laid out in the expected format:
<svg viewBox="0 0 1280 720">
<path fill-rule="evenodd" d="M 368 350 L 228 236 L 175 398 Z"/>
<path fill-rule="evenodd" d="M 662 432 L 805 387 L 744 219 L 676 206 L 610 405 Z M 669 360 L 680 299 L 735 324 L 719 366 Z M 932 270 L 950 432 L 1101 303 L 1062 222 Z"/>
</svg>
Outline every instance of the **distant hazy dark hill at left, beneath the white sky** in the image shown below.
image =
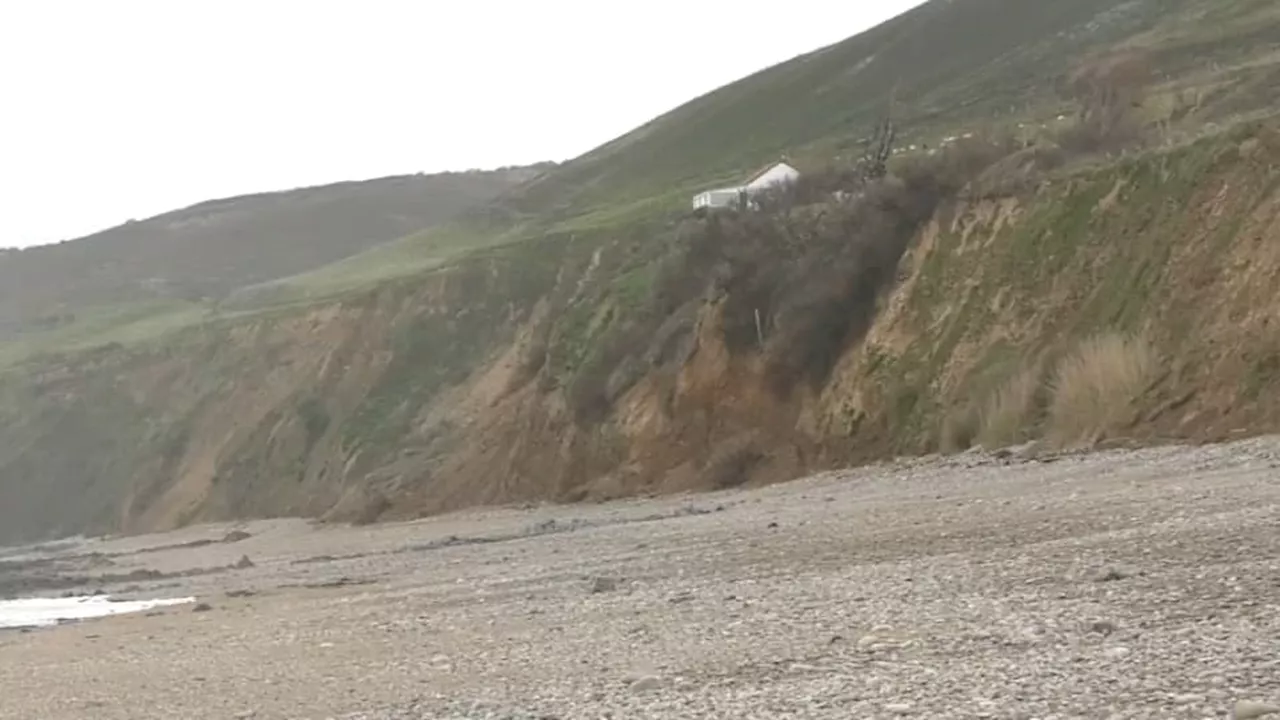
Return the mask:
<svg viewBox="0 0 1280 720">
<path fill-rule="evenodd" d="M 104 307 L 216 300 L 444 223 L 545 168 L 346 182 L 201 202 L 0 255 L 0 338 Z M 134 313 L 134 314 L 138 314 Z M 84 323 L 81 323 L 84 325 Z M 88 323 L 92 324 L 92 323 Z"/>
</svg>

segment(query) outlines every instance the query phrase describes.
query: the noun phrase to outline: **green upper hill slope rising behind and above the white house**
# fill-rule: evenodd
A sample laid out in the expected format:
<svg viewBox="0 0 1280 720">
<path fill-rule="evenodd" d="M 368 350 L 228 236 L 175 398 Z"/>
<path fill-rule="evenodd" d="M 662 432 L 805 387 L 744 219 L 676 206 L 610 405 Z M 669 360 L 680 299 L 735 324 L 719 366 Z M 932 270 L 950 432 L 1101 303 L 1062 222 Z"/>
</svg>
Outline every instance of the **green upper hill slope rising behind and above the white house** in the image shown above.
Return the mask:
<svg viewBox="0 0 1280 720">
<path fill-rule="evenodd" d="M 724 29 L 724 32 L 731 32 Z M 1157 69 L 1144 113 L 1198 131 L 1277 100 L 1280 12 L 1266 0 L 950 0 L 695 99 L 530 183 L 340 265 L 275 283 L 275 300 L 346 292 L 434 266 L 442 247 L 676 218 L 699 190 L 786 154 L 856 156 L 887 113 L 901 147 L 993 127 L 1033 133 L 1075 110 L 1069 76 L 1119 50 Z"/>
</svg>

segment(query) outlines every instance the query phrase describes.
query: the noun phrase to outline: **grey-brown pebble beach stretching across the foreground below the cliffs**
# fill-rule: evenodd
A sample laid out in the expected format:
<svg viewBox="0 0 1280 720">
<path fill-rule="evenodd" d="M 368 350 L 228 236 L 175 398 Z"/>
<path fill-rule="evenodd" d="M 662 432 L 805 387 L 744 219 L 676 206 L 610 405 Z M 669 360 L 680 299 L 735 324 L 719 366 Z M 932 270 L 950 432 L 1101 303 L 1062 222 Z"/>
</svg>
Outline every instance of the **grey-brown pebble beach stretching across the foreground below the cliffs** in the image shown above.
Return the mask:
<svg viewBox="0 0 1280 720">
<path fill-rule="evenodd" d="M 200 602 L 0 630 L 0 719 L 1280 720 L 1275 438 L 0 553 L 33 568 Z"/>
</svg>

